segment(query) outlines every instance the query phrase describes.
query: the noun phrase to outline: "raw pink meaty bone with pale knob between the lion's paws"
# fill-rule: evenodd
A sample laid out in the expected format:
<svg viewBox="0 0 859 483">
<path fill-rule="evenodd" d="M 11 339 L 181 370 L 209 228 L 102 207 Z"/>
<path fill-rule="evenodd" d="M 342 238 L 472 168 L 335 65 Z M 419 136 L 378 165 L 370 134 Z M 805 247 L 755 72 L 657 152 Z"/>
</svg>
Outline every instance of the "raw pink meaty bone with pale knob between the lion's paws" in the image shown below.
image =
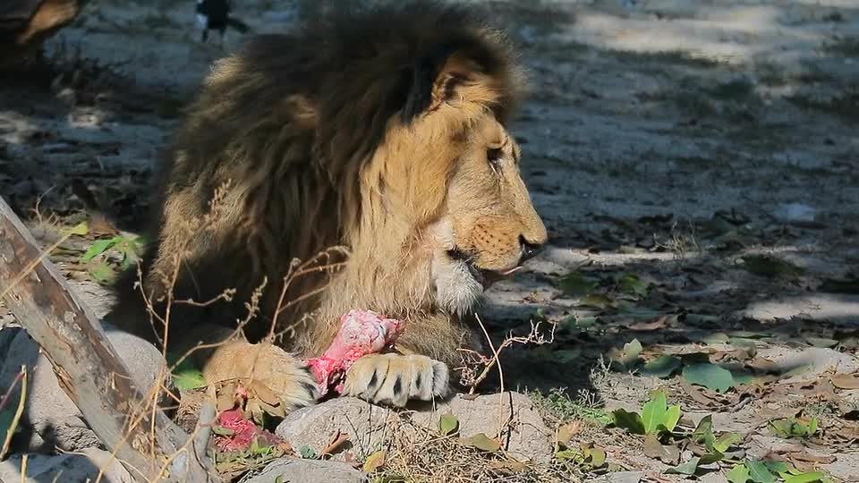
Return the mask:
<svg viewBox="0 0 859 483">
<path fill-rule="evenodd" d="M 319 382 L 320 395 L 336 383 L 337 393 L 343 392 L 343 376 L 358 358 L 379 352 L 403 330 L 403 323 L 383 318 L 371 310 L 353 309 L 340 318 L 340 332 L 321 357 L 307 360 Z"/>
</svg>

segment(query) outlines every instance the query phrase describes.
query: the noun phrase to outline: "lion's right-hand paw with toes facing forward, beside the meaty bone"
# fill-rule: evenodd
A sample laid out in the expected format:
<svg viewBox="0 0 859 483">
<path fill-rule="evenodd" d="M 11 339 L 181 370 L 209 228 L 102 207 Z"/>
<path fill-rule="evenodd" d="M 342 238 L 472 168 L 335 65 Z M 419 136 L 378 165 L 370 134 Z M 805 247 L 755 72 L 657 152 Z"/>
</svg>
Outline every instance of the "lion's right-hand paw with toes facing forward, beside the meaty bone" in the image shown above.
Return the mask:
<svg viewBox="0 0 859 483">
<path fill-rule="evenodd" d="M 412 399 L 431 401 L 448 391 L 447 366 L 422 355 L 372 354 L 346 372 L 344 395 L 402 407 Z"/>
</svg>

